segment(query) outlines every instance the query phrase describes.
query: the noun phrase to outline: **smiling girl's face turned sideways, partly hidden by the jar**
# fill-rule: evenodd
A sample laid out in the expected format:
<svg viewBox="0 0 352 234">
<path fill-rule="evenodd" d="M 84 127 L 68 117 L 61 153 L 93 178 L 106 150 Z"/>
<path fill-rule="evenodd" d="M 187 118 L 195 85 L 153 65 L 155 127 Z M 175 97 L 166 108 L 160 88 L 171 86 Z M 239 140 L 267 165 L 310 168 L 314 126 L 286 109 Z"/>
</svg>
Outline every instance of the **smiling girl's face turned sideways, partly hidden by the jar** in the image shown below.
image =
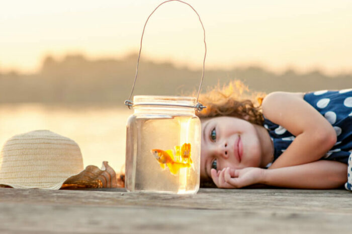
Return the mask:
<svg viewBox="0 0 352 234">
<path fill-rule="evenodd" d="M 253 124 L 235 117 L 202 120 L 201 177 L 211 179 L 212 168 L 259 167 L 261 148 Z"/>
</svg>

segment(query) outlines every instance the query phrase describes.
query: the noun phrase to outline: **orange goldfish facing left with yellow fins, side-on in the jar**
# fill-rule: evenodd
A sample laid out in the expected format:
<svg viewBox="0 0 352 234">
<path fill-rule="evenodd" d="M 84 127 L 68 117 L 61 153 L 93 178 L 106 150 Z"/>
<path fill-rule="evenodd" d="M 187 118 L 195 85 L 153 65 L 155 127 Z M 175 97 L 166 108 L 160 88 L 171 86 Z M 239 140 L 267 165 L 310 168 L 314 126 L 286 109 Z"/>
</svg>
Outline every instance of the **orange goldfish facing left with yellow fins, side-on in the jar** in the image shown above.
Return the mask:
<svg viewBox="0 0 352 234">
<path fill-rule="evenodd" d="M 155 159 L 159 162 L 162 169 L 165 168 L 165 165 L 169 169 L 170 173 L 175 175 L 179 172 L 180 168 L 191 167 L 189 163 L 180 163 L 176 162 L 173 159 L 172 150 L 161 150 L 161 149 L 152 149 L 151 153 L 154 155 Z"/>
</svg>

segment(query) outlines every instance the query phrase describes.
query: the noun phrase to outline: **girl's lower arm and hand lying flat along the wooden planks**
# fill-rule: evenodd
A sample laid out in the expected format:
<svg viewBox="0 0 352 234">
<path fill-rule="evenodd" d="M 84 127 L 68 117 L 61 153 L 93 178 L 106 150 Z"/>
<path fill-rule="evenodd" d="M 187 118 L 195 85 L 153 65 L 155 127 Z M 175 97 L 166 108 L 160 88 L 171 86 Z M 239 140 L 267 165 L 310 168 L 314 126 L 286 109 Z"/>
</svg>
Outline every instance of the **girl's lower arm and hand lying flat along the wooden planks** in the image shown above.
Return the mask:
<svg viewBox="0 0 352 234">
<path fill-rule="evenodd" d="M 225 168 L 218 173 L 212 169 L 211 176 L 219 188 L 242 188 L 253 184 L 266 184 L 296 189 L 334 189 L 347 181 L 347 165 L 321 160 L 278 169 Z"/>
</svg>

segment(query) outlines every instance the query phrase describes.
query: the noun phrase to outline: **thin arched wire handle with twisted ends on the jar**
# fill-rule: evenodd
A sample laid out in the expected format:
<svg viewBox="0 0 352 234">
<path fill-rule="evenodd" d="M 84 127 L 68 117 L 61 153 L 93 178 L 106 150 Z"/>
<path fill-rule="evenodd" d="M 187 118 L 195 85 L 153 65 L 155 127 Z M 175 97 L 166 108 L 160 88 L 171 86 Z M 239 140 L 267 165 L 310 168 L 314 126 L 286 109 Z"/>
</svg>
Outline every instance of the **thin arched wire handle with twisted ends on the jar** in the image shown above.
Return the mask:
<svg viewBox="0 0 352 234">
<path fill-rule="evenodd" d="M 143 28 L 143 32 L 142 32 L 142 37 L 141 37 L 141 44 L 140 44 L 138 59 L 137 59 L 136 76 L 134 77 L 134 82 L 133 82 L 133 86 L 132 86 L 132 91 L 131 91 L 130 97 L 128 98 L 128 100 L 125 101 L 125 105 L 128 106 L 128 108 L 130 108 L 130 109 L 131 109 L 131 106 L 133 106 L 133 102 L 130 101 L 130 100 L 131 100 L 131 97 L 132 97 L 132 94 L 133 94 L 133 90 L 134 90 L 134 86 L 135 86 L 136 80 L 137 80 L 139 58 L 140 58 L 141 51 L 142 51 L 142 40 L 143 40 L 143 35 L 144 35 L 145 26 L 147 25 L 147 22 L 148 22 L 150 16 L 156 11 L 156 9 L 158 9 L 161 5 L 163 5 L 163 4 L 165 4 L 165 3 L 174 2 L 174 1 L 180 2 L 180 3 L 183 3 L 183 4 L 186 4 L 186 5 L 188 5 L 189 7 L 191 7 L 192 10 L 197 14 L 198 19 L 199 19 L 199 21 L 201 22 L 201 25 L 202 25 L 202 28 L 203 28 L 203 33 L 204 33 L 204 46 L 205 46 L 205 53 L 204 53 L 204 60 L 203 60 L 203 71 L 202 71 L 201 83 L 200 83 L 199 89 L 198 89 L 197 105 L 194 106 L 194 107 L 197 109 L 198 112 L 202 111 L 203 108 L 205 108 L 205 106 L 203 106 L 201 103 L 198 102 L 198 98 L 199 98 L 199 94 L 200 94 L 200 92 L 201 92 L 201 87 L 202 87 L 203 78 L 204 78 L 205 57 L 206 57 L 206 55 L 207 55 L 207 43 L 205 42 L 205 29 L 204 29 L 204 26 L 203 26 L 201 17 L 199 16 L 198 12 L 197 12 L 190 4 L 185 3 L 185 2 L 183 2 L 183 1 L 181 1 L 181 0 L 168 0 L 168 1 L 165 1 L 165 2 L 162 2 L 161 4 L 159 4 L 159 5 L 154 9 L 154 11 L 148 16 L 147 20 L 145 21 L 144 28 Z"/>
</svg>

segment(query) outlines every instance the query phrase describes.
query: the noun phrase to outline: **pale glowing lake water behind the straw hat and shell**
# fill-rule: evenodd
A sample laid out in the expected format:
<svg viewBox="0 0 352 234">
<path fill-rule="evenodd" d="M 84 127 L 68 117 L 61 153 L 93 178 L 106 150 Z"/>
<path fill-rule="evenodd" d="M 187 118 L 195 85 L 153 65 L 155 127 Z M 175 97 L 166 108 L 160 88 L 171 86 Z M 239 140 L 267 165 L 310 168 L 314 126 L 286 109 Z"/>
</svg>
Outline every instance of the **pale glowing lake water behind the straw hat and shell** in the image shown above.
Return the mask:
<svg viewBox="0 0 352 234">
<path fill-rule="evenodd" d="M 125 163 L 127 107 L 0 105 L 0 145 L 16 134 L 47 129 L 76 141 L 84 167 L 103 161 L 119 172 Z"/>
</svg>

